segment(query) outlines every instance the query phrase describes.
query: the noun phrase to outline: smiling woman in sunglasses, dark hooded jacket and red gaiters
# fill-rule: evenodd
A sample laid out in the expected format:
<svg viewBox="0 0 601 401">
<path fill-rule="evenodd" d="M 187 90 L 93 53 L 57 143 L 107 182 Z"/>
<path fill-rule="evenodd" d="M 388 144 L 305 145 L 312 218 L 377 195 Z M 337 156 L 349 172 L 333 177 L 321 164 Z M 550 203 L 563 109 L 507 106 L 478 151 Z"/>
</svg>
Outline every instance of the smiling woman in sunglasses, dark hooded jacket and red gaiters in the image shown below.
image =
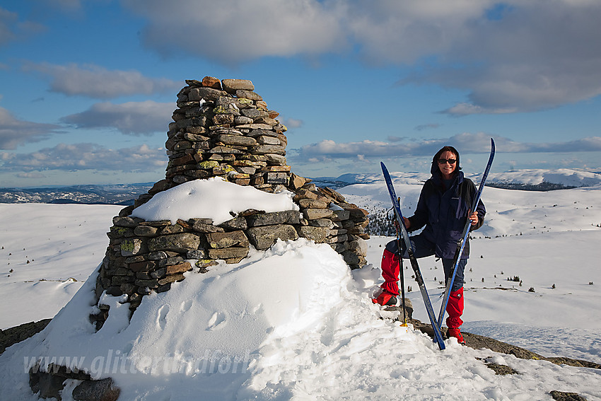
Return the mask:
<svg viewBox="0 0 601 401">
<path fill-rule="evenodd" d="M 445 146 L 434 155 L 430 172 L 432 176 L 424 183 L 419 194 L 419 201 L 413 216 L 403 218 L 407 231 L 416 231 L 424 227 L 421 233 L 412 236 L 411 242 L 415 257 L 436 255 L 443 260 L 445 282 L 450 279 L 453 260 L 457 251 L 466 219 L 471 221 L 470 231 L 482 227 L 486 209 L 482 200 L 475 211 L 470 211 L 472 199 L 477 188 L 472 180 L 465 178 L 460 171 L 459 152 L 453 146 Z M 395 305 L 399 295 L 399 252 L 397 240 L 387 243 L 382 257 L 382 294 L 373 299 L 380 305 Z M 404 248 L 404 243 L 401 244 Z M 402 257 L 408 257 L 405 249 Z M 457 342 L 465 344 L 460 326 L 463 323 L 463 284 L 464 271 L 469 256 L 469 240 L 457 265 L 455 281 L 451 287 L 446 311 L 448 336 L 455 337 Z"/>
</svg>

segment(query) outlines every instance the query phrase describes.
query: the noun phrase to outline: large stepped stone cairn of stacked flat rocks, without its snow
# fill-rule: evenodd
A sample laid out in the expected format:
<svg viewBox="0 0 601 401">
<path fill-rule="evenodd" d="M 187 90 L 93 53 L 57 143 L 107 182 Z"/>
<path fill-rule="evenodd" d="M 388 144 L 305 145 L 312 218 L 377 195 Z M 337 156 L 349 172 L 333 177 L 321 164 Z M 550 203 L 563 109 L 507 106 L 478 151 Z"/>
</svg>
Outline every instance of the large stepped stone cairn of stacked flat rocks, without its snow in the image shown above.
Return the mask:
<svg viewBox="0 0 601 401">
<path fill-rule="evenodd" d="M 367 211 L 345 202 L 338 192 L 316 187 L 286 165 L 286 127 L 269 110 L 251 81 L 205 77 L 187 80 L 165 144 L 165 180 L 113 218 L 110 239 L 96 284 L 103 291 L 127 294 L 134 312 L 151 291 L 168 291 L 184 272 L 206 272 L 217 260 L 237 263 L 249 246 L 266 250 L 278 238 L 299 237 L 327 243 L 351 269 L 366 264 Z M 289 190 L 300 211 L 247 210 L 218 226 L 211 219 L 144 221 L 132 211 L 154 194 L 190 180 L 222 177 L 265 192 Z M 108 306 L 91 316 L 99 330 Z"/>
</svg>

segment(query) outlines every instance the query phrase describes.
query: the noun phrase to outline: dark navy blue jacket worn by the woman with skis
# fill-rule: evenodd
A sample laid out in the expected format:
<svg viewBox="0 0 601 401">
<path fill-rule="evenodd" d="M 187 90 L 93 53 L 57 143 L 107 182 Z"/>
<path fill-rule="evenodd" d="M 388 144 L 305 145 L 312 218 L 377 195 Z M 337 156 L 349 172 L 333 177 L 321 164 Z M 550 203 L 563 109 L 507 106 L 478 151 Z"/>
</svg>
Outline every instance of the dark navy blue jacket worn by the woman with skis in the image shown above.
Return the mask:
<svg viewBox="0 0 601 401">
<path fill-rule="evenodd" d="M 410 231 L 426 226 L 421 236 L 435 245 L 436 257 L 452 259 L 457 250 L 457 241 L 465 227 L 467 212 L 472 207 L 472 199 L 477 194 L 476 185 L 464 178 L 458 171 L 450 186 L 445 190 L 442 176 L 433 170 L 432 177 L 424 183 L 419 194 L 415 214 L 409 217 Z M 470 231 L 480 228 L 484 223 L 486 208 L 482 199 L 476 207 L 478 223 Z M 469 238 L 463 249 L 461 259 L 469 256 Z"/>
</svg>

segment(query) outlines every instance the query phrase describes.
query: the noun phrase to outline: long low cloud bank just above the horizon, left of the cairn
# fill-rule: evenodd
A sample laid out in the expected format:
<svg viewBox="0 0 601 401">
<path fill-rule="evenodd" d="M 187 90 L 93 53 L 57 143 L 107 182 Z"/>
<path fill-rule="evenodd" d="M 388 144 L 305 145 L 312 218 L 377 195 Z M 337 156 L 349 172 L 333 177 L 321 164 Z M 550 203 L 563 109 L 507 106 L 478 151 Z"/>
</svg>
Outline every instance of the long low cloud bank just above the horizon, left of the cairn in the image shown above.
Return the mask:
<svg viewBox="0 0 601 401">
<path fill-rule="evenodd" d="M 0 153 L 4 171 L 121 170 L 154 171 L 167 164 L 165 149 L 146 144 L 122 149 L 106 149 L 98 144 L 58 144 L 33 153 Z"/>
</svg>

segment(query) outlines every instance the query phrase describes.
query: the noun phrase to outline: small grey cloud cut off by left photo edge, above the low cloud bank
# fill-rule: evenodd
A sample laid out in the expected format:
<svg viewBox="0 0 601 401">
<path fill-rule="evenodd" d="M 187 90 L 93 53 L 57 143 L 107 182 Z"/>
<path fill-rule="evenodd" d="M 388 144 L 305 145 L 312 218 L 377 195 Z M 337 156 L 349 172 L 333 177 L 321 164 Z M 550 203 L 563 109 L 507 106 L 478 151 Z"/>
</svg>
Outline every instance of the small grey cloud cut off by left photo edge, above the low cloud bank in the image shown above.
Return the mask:
<svg viewBox="0 0 601 401">
<path fill-rule="evenodd" d="M 0 149 L 16 149 L 19 145 L 42 141 L 58 133 L 59 128 L 54 124 L 18 120 L 0 107 Z"/>
</svg>

